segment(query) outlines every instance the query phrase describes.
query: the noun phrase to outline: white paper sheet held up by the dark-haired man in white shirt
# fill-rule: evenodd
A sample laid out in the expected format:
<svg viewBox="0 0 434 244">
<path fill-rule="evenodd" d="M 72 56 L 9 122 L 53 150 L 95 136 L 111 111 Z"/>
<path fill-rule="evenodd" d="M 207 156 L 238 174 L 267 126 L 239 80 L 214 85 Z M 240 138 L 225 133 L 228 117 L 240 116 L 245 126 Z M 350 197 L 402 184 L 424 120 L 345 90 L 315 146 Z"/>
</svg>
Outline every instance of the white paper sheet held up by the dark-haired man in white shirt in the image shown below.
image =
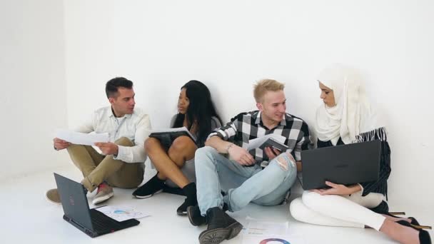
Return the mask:
<svg viewBox="0 0 434 244">
<path fill-rule="evenodd" d="M 96 142 L 109 142 L 109 133 L 80 133 L 69 130 L 59 130 L 56 137 L 77 145 L 95 146 Z"/>
</svg>

